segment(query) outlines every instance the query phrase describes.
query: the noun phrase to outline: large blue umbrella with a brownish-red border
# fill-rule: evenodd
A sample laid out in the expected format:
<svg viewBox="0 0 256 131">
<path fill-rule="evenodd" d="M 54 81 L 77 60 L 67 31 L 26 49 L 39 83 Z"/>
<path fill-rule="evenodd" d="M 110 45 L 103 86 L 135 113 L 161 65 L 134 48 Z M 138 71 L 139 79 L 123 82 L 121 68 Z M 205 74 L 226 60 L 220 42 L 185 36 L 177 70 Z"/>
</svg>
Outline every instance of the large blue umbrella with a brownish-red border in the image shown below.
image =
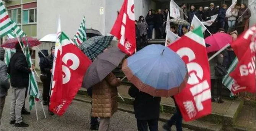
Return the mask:
<svg viewBox="0 0 256 131">
<path fill-rule="evenodd" d="M 180 56 L 163 45 L 148 45 L 122 65 L 122 71 L 140 91 L 170 97 L 186 86 L 188 71 Z"/>
</svg>

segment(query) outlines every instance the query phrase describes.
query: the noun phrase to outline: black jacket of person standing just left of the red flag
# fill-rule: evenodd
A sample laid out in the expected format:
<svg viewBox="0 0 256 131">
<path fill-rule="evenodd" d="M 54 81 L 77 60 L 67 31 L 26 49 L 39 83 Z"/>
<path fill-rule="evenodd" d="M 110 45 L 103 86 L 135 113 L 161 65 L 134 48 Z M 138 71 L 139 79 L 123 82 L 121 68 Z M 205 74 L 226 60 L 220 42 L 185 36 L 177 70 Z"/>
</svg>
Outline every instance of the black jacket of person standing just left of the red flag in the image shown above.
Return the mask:
<svg viewBox="0 0 256 131">
<path fill-rule="evenodd" d="M 52 73 L 50 70 L 52 69 L 53 65 L 53 55 L 50 54 L 48 57 L 44 58 L 44 61 L 40 65 L 41 74 L 46 75 L 47 77 L 52 77 Z"/>
</svg>

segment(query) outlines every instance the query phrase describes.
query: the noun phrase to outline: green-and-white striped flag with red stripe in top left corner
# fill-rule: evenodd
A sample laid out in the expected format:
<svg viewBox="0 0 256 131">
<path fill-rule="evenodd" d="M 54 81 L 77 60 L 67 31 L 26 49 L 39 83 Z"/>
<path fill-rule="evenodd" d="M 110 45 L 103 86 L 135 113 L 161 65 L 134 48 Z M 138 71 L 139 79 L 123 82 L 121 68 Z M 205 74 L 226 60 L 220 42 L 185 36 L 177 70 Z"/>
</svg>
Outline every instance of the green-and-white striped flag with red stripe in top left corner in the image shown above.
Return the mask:
<svg viewBox="0 0 256 131">
<path fill-rule="evenodd" d="M 2 0 L 0 0 L 0 37 L 10 34 L 14 37 L 15 31 L 19 36 L 24 36 L 24 32 L 17 26 L 17 24 L 11 20 L 8 13 L 3 5 Z"/>
</svg>

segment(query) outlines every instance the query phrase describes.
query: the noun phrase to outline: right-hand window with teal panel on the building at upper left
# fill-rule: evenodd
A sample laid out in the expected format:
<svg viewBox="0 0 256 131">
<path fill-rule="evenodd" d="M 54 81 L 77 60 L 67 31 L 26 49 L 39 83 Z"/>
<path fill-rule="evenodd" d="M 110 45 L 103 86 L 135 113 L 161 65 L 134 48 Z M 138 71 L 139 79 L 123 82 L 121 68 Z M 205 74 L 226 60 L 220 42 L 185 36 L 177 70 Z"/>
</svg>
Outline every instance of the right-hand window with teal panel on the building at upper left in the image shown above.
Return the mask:
<svg viewBox="0 0 256 131">
<path fill-rule="evenodd" d="M 36 9 L 23 10 L 23 24 L 36 22 Z"/>
</svg>

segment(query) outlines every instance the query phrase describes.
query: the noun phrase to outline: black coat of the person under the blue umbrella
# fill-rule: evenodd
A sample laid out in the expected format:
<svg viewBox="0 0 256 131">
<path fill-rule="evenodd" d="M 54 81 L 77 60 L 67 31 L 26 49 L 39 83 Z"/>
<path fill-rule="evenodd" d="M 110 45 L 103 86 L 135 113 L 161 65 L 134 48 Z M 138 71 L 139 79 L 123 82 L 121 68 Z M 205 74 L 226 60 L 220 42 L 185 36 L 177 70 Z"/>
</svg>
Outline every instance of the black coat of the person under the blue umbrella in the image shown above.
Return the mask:
<svg viewBox="0 0 256 131">
<path fill-rule="evenodd" d="M 134 85 L 129 89 L 129 95 L 135 97 L 134 114 L 138 120 L 152 120 L 159 118 L 161 97 L 153 97 L 140 92 Z"/>
</svg>

